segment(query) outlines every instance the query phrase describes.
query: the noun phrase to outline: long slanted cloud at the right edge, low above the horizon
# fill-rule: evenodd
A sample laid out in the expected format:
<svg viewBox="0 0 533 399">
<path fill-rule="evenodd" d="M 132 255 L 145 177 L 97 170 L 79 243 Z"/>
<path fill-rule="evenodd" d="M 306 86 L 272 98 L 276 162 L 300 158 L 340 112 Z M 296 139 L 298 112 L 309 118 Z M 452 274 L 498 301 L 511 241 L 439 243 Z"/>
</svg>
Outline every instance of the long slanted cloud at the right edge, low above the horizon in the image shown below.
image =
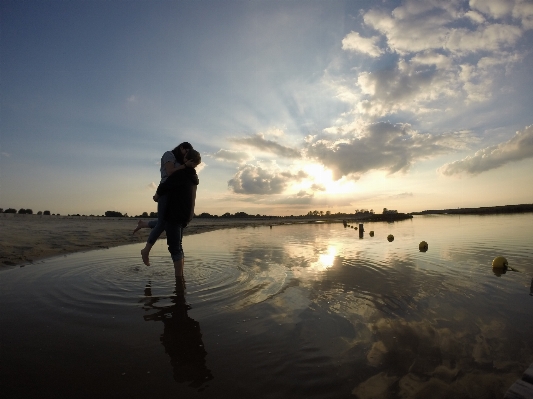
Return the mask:
<svg viewBox="0 0 533 399">
<path fill-rule="evenodd" d="M 463 173 L 477 175 L 526 158 L 533 158 L 533 125 L 516 132 L 510 140 L 504 143 L 483 148 L 473 156 L 447 163 L 438 171 L 445 176 Z"/>
</svg>

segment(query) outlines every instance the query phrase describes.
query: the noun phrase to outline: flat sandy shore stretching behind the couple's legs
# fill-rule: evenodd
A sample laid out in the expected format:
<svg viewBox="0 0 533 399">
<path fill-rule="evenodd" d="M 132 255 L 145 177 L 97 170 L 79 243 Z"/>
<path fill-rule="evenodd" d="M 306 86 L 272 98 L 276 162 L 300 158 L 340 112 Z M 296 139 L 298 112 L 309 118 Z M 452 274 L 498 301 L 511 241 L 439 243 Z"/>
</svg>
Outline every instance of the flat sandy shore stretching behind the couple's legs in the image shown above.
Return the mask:
<svg viewBox="0 0 533 399">
<path fill-rule="evenodd" d="M 150 220 L 150 219 L 145 219 Z M 136 218 L 0 214 L 0 270 L 51 256 L 145 242 L 149 229 L 135 235 Z M 305 219 L 306 222 L 312 221 Z M 276 225 L 285 218 L 196 218 L 184 235 L 247 226 Z M 165 235 L 161 236 L 165 238 Z"/>
</svg>

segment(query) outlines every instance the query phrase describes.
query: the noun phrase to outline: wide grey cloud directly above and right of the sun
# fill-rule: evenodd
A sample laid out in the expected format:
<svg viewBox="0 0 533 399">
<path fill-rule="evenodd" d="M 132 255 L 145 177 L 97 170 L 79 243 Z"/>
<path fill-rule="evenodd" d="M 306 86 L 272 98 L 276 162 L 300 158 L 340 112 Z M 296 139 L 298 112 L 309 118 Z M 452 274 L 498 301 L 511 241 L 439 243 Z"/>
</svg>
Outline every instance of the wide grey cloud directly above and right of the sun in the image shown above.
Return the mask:
<svg viewBox="0 0 533 399">
<path fill-rule="evenodd" d="M 331 169 L 335 180 L 359 179 L 371 170 L 406 172 L 417 161 L 463 148 L 468 140 L 464 132 L 421 134 L 409 124 L 376 123 L 356 137 L 315 136 L 308 143 L 307 156 Z"/>
</svg>

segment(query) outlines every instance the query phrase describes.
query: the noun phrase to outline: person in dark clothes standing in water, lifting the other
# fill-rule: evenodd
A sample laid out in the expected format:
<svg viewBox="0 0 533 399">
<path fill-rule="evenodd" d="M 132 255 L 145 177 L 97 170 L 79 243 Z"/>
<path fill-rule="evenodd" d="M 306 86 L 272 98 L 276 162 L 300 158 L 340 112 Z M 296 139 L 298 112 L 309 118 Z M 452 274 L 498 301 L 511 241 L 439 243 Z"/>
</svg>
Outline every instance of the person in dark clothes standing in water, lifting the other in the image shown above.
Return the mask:
<svg viewBox="0 0 533 399">
<path fill-rule="evenodd" d="M 182 247 L 183 229 L 194 217 L 196 188 L 199 184 L 196 166 L 202 162 L 198 151 L 189 150 L 184 156 L 185 165 L 192 165 L 173 173 L 159 184 L 154 197 L 167 196 L 163 216 L 167 232 L 168 251 L 174 262 L 176 279 L 183 279 L 184 254 Z"/>
</svg>

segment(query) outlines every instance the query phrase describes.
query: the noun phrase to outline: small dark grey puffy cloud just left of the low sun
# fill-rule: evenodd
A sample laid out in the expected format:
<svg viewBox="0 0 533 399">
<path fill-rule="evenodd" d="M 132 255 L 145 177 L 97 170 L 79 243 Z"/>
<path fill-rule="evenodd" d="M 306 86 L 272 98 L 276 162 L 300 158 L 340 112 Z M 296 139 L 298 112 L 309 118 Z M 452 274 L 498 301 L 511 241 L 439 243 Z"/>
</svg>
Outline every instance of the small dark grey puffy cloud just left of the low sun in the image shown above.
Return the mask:
<svg viewBox="0 0 533 399">
<path fill-rule="evenodd" d="M 287 185 L 307 177 L 303 171 L 291 172 L 271 171 L 260 166 L 241 166 L 228 187 L 238 194 L 280 194 Z"/>
</svg>

